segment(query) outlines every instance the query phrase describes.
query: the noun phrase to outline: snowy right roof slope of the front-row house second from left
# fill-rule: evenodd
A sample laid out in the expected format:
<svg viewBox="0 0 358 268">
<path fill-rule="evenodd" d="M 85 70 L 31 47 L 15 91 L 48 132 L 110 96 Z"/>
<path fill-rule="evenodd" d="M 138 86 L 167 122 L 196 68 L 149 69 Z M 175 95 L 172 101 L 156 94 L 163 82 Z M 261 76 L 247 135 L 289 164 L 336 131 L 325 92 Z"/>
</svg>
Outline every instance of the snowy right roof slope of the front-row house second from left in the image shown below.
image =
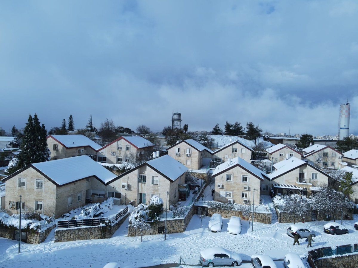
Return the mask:
<svg viewBox="0 0 358 268">
<path fill-rule="evenodd" d="M 163 155 L 162 157 L 155 158 L 145 163 L 172 181 L 178 179 L 183 173 L 188 171 L 187 167 L 169 155 Z"/>
</svg>

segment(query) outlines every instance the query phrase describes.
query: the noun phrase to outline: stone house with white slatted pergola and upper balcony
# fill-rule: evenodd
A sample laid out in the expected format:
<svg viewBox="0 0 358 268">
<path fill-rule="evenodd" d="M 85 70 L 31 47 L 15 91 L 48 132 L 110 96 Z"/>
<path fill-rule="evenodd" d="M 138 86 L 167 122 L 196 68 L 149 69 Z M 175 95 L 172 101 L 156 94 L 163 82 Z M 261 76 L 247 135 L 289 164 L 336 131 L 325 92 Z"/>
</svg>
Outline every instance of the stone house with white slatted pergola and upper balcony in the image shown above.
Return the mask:
<svg viewBox="0 0 358 268">
<path fill-rule="evenodd" d="M 328 185 L 331 178 L 315 166 L 291 157 L 274 164 L 275 171 L 267 174 L 271 180 L 271 189 L 276 194 L 304 194 L 310 195 L 312 187 L 320 184 Z"/>
</svg>

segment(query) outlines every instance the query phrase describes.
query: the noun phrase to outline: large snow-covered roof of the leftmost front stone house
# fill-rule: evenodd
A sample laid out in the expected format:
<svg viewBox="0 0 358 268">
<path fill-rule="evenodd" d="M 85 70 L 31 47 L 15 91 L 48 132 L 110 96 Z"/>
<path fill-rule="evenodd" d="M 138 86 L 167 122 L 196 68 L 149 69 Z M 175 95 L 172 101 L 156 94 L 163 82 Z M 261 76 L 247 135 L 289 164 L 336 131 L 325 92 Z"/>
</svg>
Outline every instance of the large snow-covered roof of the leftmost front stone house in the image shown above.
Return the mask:
<svg viewBox="0 0 358 268">
<path fill-rule="evenodd" d="M 6 177 L 4 180 L 10 179 L 30 167 L 37 169 L 47 179 L 51 180 L 58 186 L 76 182 L 77 180 L 92 176 L 97 177 L 105 184 L 117 177 L 115 174 L 102 167 L 102 165 L 98 164 L 87 155 L 81 155 L 77 157 L 30 164 Z"/>
</svg>

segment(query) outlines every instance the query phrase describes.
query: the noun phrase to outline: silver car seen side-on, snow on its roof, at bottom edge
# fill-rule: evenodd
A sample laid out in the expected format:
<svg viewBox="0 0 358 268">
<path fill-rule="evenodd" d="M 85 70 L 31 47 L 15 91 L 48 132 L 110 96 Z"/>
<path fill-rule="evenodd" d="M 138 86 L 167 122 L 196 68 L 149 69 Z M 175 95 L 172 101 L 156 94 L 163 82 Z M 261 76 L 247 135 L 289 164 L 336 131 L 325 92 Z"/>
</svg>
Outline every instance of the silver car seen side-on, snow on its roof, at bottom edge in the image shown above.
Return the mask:
<svg viewBox="0 0 358 268">
<path fill-rule="evenodd" d="M 213 267 L 213 266 L 238 266 L 242 260 L 240 254 L 231 252 L 225 248 L 207 248 L 200 252 L 199 262 L 202 265 Z"/>
</svg>

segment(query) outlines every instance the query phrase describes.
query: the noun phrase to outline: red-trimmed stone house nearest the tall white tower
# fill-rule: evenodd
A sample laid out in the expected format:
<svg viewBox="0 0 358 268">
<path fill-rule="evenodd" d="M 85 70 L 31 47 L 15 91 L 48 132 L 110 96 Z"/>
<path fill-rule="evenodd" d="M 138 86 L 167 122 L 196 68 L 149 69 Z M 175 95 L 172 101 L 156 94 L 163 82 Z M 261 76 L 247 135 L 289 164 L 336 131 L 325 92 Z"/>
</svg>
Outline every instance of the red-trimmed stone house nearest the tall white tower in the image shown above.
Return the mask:
<svg viewBox="0 0 358 268">
<path fill-rule="evenodd" d="M 318 168 L 337 169 L 342 162 L 342 153 L 328 145 L 313 144 L 302 151 L 302 159 Z"/>
</svg>

